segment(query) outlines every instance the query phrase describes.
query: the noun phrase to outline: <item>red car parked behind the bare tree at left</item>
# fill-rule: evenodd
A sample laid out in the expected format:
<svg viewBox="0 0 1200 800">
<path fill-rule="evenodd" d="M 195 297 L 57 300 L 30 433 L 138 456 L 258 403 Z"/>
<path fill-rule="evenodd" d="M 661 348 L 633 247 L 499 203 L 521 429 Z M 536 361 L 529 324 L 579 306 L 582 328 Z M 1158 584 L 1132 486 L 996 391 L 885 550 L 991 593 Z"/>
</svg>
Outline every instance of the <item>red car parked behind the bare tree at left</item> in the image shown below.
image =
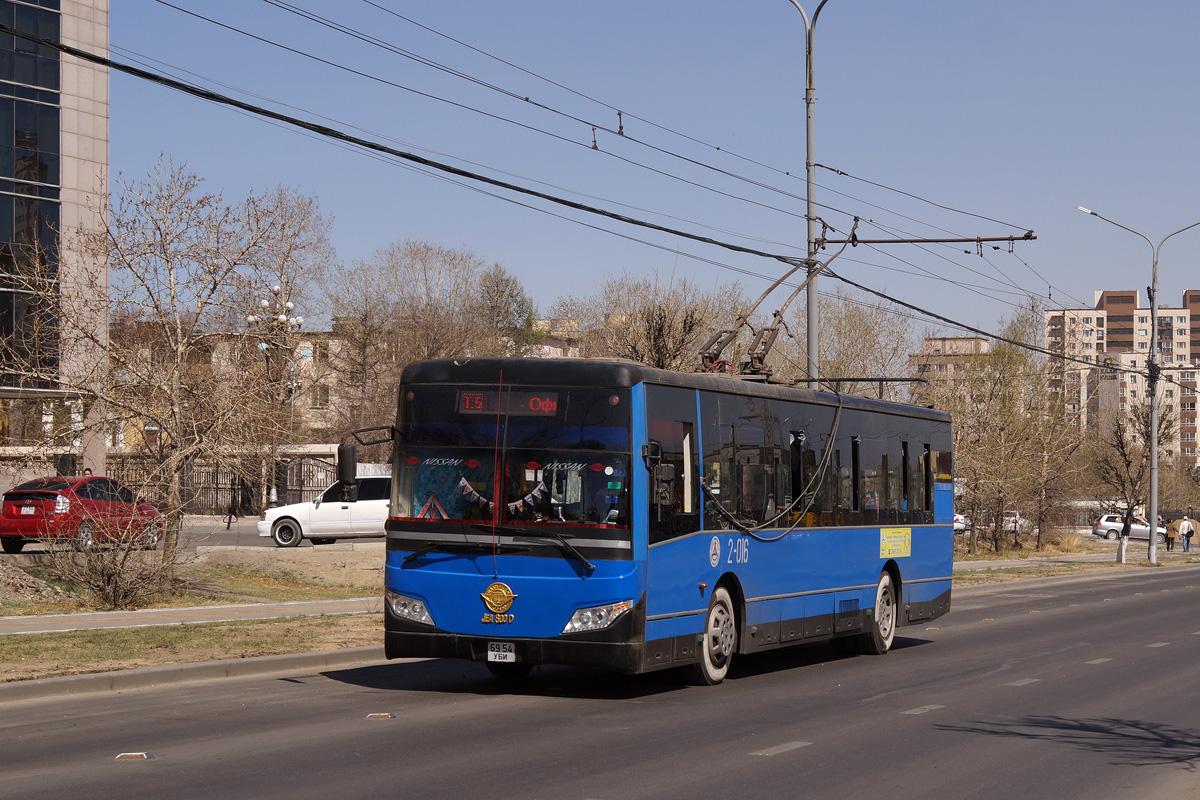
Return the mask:
<svg viewBox="0 0 1200 800">
<path fill-rule="evenodd" d="M 71 539 L 86 548 L 131 536 L 155 547 L 162 536 L 158 510 L 109 477 L 38 477 L 4 494 L 5 553 L 19 553 L 26 541 L 37 539 Z"/>
</svg>

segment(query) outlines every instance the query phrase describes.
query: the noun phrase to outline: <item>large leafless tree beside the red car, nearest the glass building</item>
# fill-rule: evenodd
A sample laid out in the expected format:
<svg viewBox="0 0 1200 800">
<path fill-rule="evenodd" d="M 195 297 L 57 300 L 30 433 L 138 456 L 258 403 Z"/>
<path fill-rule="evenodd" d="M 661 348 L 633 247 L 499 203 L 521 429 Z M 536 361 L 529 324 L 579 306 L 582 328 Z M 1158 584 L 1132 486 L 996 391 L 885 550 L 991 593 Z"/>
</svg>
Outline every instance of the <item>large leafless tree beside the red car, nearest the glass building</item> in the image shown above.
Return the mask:
<svg viewBox="0 0 1200 800">
<path fill-rule="evenodd" d="M 316 203 L 287 190 L 228 204 L 170 162 L 115 184 L 107 228 L 62 231 L 65 249 L 108 267 L 60 293 L 59 357 L 70 369 L 44 359 L 26 359 L 22 369 L 25 380 L 102 408 L 95 423 L 139 452 L 131 488 L 169 521 L 158 573 L 166 587 L 192 467 L 260 459 L 286 434 L 287 375 L 264 353 L 282 351 L 288 332 L 247 342 L 251 303 L 272 281 L 313 283 L 330 249 Z"/>
</svg>

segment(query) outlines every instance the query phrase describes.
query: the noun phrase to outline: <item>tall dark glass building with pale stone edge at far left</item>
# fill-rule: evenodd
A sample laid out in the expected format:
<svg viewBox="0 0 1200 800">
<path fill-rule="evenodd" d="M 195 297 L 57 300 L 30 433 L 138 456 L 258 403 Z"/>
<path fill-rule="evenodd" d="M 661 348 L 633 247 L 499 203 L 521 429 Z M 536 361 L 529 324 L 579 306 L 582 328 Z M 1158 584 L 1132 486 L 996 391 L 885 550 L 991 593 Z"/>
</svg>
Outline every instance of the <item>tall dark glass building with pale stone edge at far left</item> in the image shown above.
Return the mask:
<svg viewBox="0 0 1200 800">
<path fill-rule="evenodd" d="M 0 23 L 108 54 L 108 0 L 0 0 Z M 102 229 L 107 188 L 108 71 L 0 35 L 0 446 L 44 444 L 88 415 L 80 375 L 102 356 L 67 351 L 60 299 L 107 296 L 107 276 L 61 233 Z M 94 326 L 102 344 L 107 321 Z M 102 440 L 83 439 L 61 444 L 102 463 Z"/>
</svg>

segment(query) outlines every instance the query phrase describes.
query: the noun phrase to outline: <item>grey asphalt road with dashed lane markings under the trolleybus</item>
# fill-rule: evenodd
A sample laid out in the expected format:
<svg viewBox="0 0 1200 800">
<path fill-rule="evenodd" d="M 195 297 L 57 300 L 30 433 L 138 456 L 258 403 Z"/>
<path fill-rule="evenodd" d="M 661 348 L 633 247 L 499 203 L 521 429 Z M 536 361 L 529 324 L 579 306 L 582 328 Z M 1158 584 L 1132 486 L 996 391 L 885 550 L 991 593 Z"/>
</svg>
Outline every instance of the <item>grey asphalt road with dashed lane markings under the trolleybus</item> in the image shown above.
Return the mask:
<svg viewBox="0 0 1200 800">
<path fill-rule="evenodd" d="M 13 798 L 1200 796 L 1200 567 L 959 590 L 883 657 L 386 663 L 0 709 Z M 382 716 L 372 716 L 382 715 Z M 118 759 L 145 752 L 150 759 Z"/>
</svg>

